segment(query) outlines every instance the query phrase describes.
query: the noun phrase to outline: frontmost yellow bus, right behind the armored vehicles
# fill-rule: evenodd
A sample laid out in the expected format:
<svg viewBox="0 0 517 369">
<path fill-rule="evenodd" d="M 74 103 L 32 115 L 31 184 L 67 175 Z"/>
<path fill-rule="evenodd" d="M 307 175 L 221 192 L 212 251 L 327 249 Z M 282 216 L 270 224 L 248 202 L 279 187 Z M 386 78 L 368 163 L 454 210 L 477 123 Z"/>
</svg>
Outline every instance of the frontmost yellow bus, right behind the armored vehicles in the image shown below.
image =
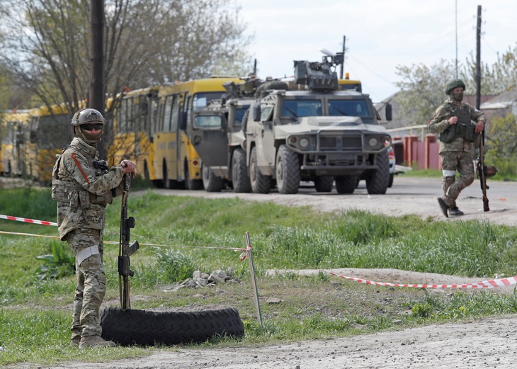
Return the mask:
<svg viewBox="0 0 517 369">
<path fill-rule="evenodd" d="M 152 127 L 157 186 L 203 189 L 201 161 L 195 151 L 196 142 L 186 134 L 186 122 L 192 110 L 203 109 L 210 101 L 221 98 L 225 93 L 222 84 L 227 81 L 238 83 L 240 79 L 213 77 L 161 86 L 158 119 Z"/>
</svg>

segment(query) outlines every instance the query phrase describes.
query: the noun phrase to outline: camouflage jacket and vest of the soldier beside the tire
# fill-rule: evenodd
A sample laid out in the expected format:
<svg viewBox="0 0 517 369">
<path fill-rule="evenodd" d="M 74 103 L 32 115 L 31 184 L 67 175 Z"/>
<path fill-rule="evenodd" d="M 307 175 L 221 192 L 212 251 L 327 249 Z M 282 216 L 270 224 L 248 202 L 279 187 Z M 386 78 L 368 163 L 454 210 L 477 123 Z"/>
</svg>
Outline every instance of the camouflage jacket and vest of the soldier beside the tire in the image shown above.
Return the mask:
<svg viewBox="0 0 517 369">
<path fill-rule="evenodd" d="M 113 201 L 112 188 L 121 185 L 121 166 L 96 168 L 98 152 L 79 137 L 57 155 L 52 170 L 52 199 L 57 200 L 59 236 L 73 229 L 104 229 L 106 204 Z"/>
</svg>

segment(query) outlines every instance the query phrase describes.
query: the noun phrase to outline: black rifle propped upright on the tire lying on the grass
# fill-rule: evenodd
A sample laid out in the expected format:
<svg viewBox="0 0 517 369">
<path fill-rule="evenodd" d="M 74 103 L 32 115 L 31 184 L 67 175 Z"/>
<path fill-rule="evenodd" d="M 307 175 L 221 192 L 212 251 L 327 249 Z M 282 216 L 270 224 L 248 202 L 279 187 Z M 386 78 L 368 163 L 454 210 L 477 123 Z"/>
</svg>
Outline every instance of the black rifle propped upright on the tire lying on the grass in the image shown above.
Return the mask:
<svg viewBox="0 0 517 369">
<path fill-rule="evenodd" d="M 135 218 L 127 217 L 127 197 L 131 187 L 131 174 L 124 175 L 122 192 L 122 211 L 120 212 L 120 242 L 118 246 L 118 290 L 122 310 L 131 309 L 129 277 L 135 276 L 130 268 L 130 256 L 137 252 L 138 241 L 130 244 L 130 229 L 135 228 Z"/>
</svg>

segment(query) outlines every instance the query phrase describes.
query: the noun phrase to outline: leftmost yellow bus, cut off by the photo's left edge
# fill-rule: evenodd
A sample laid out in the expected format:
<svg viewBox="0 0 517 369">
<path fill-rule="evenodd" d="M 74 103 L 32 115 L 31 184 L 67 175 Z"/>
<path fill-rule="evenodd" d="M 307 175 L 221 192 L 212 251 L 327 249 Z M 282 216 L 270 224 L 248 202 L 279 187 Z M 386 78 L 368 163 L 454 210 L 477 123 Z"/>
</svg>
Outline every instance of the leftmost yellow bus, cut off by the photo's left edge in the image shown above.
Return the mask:
<svg viewBox="0 0 517 369">
<path fill-rule="evenodd" d="M 8 110 L 0 114 L 0 173 L 4 176 L 26 174 L 23 142 L 28 119 L 29 110 Z"/>
</svg>

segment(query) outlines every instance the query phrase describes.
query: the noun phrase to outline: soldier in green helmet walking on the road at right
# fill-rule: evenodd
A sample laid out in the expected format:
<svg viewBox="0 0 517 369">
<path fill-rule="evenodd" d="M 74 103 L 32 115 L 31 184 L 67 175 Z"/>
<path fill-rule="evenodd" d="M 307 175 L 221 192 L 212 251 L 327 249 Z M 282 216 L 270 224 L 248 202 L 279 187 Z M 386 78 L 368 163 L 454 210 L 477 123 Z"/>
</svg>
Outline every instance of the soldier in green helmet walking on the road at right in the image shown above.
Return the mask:
<svg viewBox="0 0 517 369">
<path fill-rule="evenodd" d="M 463 188 L 474 181 L 473 154 L 487 119 L 482 112 L 462 103 L 465 84 L 453 79 L 445 85 L 447 100 L 436 109 L 429 122 L 429 131 L 440 134 L 440 157 L 443 171 L 443 196 L 438 205 L 445 217 L 463 215 L 456 199 Z M 477 122 L 476 124 L 472 121 Z M 460 174 L 456 181 L 456 171 Z"/>
</svg>

